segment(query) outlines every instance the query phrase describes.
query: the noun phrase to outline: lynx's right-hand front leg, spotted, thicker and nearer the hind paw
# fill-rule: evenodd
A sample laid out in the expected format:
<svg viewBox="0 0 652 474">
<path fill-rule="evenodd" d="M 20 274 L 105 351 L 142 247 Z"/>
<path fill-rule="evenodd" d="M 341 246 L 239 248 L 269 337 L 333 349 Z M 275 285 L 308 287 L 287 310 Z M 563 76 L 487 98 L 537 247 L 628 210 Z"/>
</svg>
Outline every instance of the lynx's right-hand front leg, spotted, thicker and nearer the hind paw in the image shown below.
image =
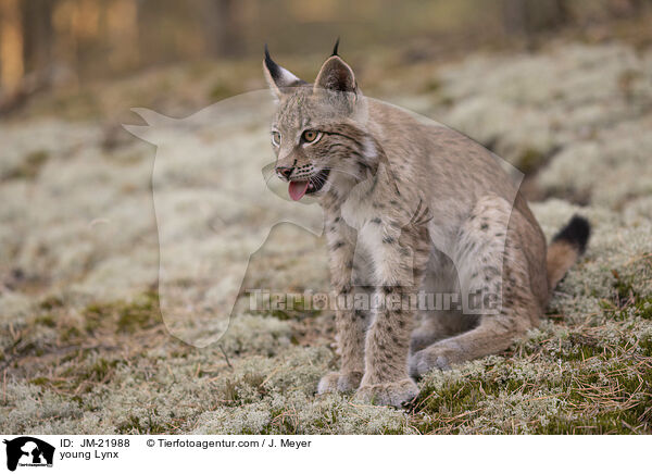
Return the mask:
<svg viewBox="0 0 652 474">
<path fill-rule="evenodd" d="M 374 250 L 376 303 L 384 304 L 375 309 L 367 332 L 365 373 L 358 398 L 401 407 L 418 395 L 408 372 L 408 356 L 415 311 L 411 298 L 416 297 L 425 273 L 427 235 L 425 228 L 412 227 L 403 229 L 400 238 L 391 230 L 376 229 L 376 236 L 368 235 L 373 229 L 365 230 L 363 238 L 372 242 L 379 236 Z"/>
</svg>

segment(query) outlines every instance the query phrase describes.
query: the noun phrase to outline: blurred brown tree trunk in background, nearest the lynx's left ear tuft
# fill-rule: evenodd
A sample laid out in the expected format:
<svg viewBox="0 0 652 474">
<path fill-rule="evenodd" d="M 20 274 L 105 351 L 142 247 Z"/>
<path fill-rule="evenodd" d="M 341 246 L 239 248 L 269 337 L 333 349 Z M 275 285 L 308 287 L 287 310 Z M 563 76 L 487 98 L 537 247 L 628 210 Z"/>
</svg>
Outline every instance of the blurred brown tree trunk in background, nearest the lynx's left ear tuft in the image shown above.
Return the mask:
<svg viewBox="0 0 652 474">
<path fill-rule="evenodd" d="M 233 58 L 242 52 L 242 25 L 236 0 L 206 0 L 204 32 L 208 50 L 215 57 Z"/>
</svg>

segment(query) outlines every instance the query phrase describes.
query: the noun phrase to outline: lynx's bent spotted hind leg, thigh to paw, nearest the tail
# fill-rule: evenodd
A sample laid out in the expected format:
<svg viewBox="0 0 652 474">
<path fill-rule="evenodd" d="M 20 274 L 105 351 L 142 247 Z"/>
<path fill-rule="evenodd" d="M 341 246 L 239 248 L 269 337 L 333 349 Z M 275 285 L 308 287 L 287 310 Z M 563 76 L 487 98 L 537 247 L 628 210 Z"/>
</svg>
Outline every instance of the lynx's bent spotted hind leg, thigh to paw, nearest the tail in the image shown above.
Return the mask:
<svg viewBox="0 0 652 474">
<path fill-rule="evenodd" d="M 476 312 L 474 304 L 479 303 L 480 322 L 467 333 L 415 352 L 410 360 L 412 376 L 505 350 L 538 321 L 542 310 L 531 290 L 524 242 L 515 232 L 521 225 L 528 223 L 504 199 L 478 202 L 461 229 L 455 262 L 464 310 Z M 466 301 L 464 292 L 480 297 Z"/>
</svg>

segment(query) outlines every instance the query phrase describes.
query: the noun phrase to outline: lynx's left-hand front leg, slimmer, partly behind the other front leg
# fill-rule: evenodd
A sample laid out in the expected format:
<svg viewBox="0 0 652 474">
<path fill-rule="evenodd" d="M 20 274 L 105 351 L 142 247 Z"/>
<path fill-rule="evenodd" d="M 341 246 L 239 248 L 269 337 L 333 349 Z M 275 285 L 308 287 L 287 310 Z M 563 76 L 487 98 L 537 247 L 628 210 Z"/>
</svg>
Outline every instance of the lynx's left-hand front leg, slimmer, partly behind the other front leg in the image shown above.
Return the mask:
<svg viewBox="0 0 652 474">
<path fill-rule="evenodd" d="M 330 279 L 338 301 L 335 321 L 341 367 L 339 372 L 322 377 L 317 394 L 351 391 L 360 386 L 364 373 L 364 335 L 368 325 L 367 313 L 356 311 L 350 304 L 353 298 L 351 273 L 354 258 L 354 246 L 349 235 L 351 229 L 339 214 L 328 219 L 326 225 Z"/>
</svg>

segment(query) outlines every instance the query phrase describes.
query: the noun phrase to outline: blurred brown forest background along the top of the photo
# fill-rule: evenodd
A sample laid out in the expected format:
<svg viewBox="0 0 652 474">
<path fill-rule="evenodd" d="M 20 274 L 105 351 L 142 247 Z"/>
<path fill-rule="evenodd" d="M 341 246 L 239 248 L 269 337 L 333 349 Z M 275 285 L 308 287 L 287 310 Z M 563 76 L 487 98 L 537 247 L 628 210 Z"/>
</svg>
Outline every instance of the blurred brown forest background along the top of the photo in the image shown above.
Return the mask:
<svg viewBox="0 0 652 474">
<path fill-rule="evenodd" d="M 78 88 L 154 66 L 322 58 L 337 36 L 344 55 L 383 48 L 399 62 L 441 61 L 477 49 L 536 48 L 561 29 L 584 40 L 618 35 L 649 41 L 647 0 L 0 0 L 0 114 L 34 95 Z M 648 25 L 649 26 L 649 25 Z M 638 38 L 638 39 L 637 39 Z M 391 54 L 389 54 L 391 55 Z M 387 60 L 387 58 L 385 58 Z M 371 86 L 374 86 L 372 79 Z M 213 98 L 246 90 L 213 87 Z"/>
</svg>

